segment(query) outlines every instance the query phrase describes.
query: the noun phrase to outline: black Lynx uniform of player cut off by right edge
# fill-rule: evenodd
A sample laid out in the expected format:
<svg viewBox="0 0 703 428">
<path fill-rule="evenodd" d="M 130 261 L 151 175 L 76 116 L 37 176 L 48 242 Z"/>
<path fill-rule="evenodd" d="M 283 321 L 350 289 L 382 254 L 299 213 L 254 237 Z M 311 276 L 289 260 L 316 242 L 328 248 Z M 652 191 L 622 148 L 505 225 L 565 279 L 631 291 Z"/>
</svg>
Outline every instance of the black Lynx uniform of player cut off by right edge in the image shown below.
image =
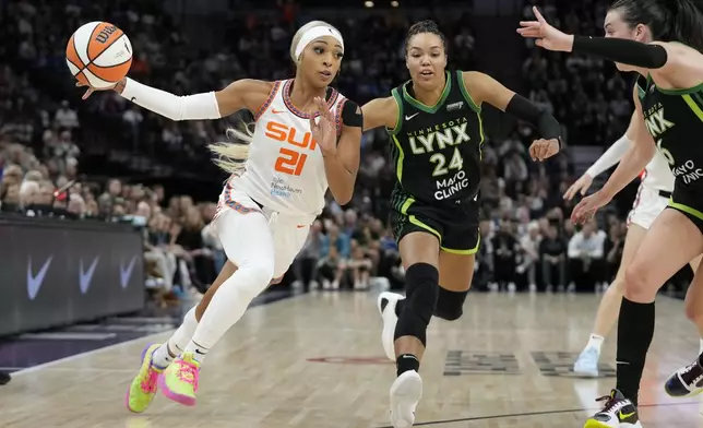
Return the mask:
<svg viewBox="0 0 703 428">
<path fill-rule="evenodd" d="M 669 207 L 703 231 L 703 84 L 662 90 L 651 78 L 638 80 L 645 124 L 676 177 Z"/>
</svg>

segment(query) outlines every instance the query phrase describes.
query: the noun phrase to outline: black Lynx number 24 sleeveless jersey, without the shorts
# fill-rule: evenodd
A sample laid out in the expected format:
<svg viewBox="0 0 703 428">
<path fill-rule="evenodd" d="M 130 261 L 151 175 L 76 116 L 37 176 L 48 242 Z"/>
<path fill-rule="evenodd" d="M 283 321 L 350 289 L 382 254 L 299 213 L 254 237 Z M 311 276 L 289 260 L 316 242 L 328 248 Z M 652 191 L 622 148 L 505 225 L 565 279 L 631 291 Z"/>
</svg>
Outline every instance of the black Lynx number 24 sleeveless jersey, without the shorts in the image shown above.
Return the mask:
<svg viewBox="0 0 703 428">
<path fill-rule="evenodd" d="M 484 143 L 480 108 L 464 86 L 461 71 L 446 72 L 434 106 L 410 95 L 412 82 L 394 88 L 398 119 L 391 134 L 397 177 L 391 203 L 400 210 L 412 198 L 432 205 L 474 199 Z"/>
</svg>

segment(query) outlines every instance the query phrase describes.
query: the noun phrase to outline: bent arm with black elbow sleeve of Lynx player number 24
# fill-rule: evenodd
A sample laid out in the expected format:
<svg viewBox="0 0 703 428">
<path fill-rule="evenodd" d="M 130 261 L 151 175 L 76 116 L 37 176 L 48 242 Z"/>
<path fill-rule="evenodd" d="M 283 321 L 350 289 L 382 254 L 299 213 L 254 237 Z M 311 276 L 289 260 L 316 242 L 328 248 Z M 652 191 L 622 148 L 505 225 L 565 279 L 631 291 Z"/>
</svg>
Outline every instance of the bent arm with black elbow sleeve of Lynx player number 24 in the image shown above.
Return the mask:
<svg viewBox="0 0 703 428">
<path fill-rule="evenodd" d="M 551 157 L 561 147 L 561 124 L 529 99 L 503 86 L 496 79 L 477 71 L 463 73 L 464 86 L 477 106 L 488 103 L 509 115 L 522 119 L 537 129 L 541 136 L 529 147 L 534 159 L 543 160 Z"/>
</svg>

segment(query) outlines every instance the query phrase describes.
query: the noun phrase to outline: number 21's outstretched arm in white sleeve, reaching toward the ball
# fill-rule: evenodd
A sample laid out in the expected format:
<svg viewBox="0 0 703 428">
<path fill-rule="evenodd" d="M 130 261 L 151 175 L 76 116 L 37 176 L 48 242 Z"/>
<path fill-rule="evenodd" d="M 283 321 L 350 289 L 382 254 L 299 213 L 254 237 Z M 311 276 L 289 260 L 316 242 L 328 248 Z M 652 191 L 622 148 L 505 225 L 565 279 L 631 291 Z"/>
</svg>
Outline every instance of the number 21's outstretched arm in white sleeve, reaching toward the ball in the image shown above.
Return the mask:
<svg viewBox="0 0 703 428">
<path fill-rule="evenodd" d="M 242 79 L 222 91 L 178 96 L 129 78 L 114 87 L 122 97 L 171 120 L 219 119 L 243 108 L 255 112 L 272 88 L 272 82 Z M 88 88 L 83 98 L 93 91 Z"/>
</svg>

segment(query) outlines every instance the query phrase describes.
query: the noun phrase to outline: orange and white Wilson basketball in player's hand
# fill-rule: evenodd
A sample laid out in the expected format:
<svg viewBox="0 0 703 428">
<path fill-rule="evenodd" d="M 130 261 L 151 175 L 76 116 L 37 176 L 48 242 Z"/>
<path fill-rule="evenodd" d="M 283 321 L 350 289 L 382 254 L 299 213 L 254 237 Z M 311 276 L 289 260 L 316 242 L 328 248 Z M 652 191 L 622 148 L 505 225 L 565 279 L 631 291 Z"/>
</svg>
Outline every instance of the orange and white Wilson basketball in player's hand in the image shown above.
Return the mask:
<svg viewBox="0 0 703 428">
<path fill-rule="evenodd" d="M 110 87 L 129 72 L 132 45 L 114 24 L 90 22 L 69 39 L 65 62 L 79 82 L 97 88 Z"/>
</svg>

